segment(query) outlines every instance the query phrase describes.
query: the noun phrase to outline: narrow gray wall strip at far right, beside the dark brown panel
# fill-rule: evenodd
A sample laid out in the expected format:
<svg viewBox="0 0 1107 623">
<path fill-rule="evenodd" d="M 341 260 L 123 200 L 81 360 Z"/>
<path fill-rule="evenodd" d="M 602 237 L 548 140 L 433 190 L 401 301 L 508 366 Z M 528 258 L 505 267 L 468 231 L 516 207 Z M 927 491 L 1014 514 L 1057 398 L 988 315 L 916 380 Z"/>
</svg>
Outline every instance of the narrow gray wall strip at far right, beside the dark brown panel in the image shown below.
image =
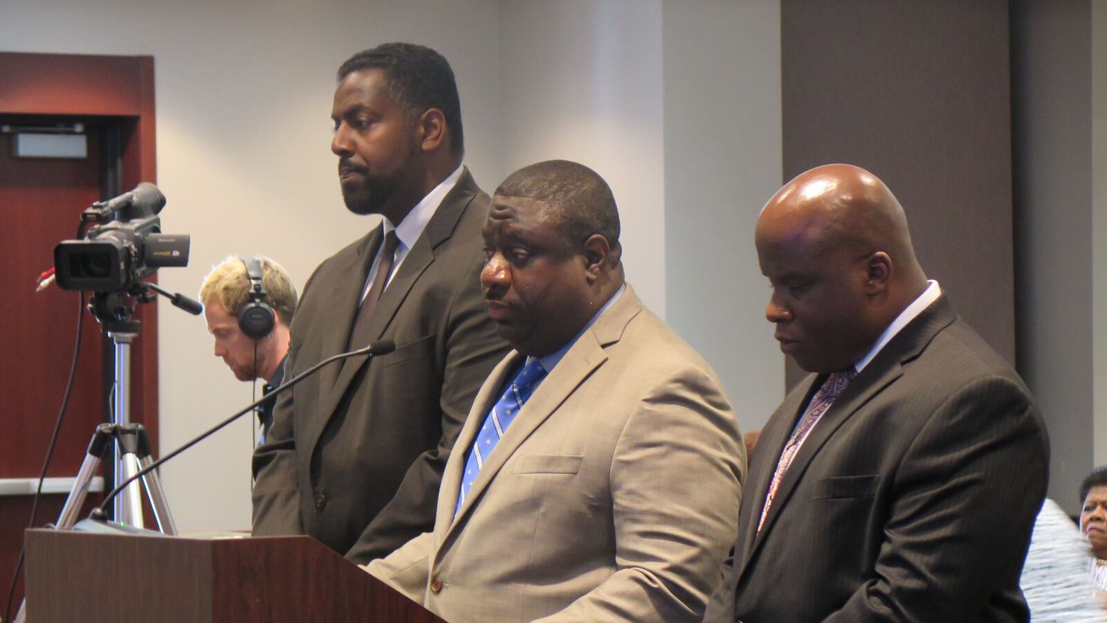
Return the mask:
<svg viewBox="0 0 1107 623">
<path fill-rule="evenodd" d="M 1049 430 L 1049 497 L 1069 513 L 1094 460 L 1090 10 L 1017 0 L 1011 16 L 1018 367 Z"/>
</svg>

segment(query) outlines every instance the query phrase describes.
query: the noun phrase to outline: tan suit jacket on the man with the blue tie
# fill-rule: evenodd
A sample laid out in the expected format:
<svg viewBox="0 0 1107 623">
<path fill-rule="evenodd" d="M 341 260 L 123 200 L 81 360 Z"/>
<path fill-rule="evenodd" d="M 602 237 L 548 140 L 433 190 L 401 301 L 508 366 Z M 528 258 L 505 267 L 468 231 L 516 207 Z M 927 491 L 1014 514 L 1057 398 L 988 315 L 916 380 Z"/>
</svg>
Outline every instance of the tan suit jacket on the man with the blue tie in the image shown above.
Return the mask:
<svg viewBox="0 0 1107 623">
<path fill-rule="evenodd" d="M 521 358 L 480 388 L 434 531 L 370 571 L 452 622 L 699 621 L 745 469 L 712 369 L 628 286 L 535 390 L 455 519 L 469 447 Z"/>
</svg>

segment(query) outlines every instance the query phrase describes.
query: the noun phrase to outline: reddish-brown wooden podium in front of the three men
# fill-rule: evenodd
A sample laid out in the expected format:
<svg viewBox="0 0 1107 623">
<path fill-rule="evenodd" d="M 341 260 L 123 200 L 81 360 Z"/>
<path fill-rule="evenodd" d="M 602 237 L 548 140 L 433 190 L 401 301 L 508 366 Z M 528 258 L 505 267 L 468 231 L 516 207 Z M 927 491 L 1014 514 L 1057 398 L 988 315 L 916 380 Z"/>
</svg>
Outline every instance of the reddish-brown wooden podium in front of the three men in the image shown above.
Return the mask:
<svg viewBox="0 0 1107 623">
<path fill-rule="evenodd" d="M 444 623 L 310 537 L 27 531 L 27 621 Z"/>
</svg>

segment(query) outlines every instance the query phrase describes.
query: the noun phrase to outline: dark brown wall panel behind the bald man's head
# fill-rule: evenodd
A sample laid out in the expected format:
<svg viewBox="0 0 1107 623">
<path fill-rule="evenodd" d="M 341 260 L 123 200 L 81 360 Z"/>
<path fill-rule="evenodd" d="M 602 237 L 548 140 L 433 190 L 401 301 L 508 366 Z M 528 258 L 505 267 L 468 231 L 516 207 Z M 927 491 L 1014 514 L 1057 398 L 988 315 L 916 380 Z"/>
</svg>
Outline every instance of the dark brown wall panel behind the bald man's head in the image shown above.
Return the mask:
<svg viewBox="0 0 1107 623">
<path fill-rule="evenodd" d="M 784 0 L 780 12 L 785 177 L 848 162 L 883 180 L 927 275 L 1014 361 L 1006 3 Z"/>
</svg>

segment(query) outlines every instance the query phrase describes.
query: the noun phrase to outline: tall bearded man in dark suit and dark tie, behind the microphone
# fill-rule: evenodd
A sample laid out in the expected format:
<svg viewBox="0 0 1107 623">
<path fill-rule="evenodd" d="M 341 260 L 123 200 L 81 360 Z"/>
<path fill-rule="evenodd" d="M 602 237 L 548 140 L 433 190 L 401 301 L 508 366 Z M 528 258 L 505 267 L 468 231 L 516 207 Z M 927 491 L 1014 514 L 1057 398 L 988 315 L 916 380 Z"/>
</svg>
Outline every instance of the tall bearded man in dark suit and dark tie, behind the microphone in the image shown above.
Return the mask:
<svg viewBox="0 0 1107 623">
<path fill-rule="evenodd" d="M 288 377 L 379 339 L 395 351 L 329 365 L 278 400 L 254 458 L 254 533 L 310 534 L 364 563 L 434 525 L 449 450 L 507 345 L 484 309 L 489 198 L 462 166 L 446 60 L 408 43 L 354 54 L 331 116 L 346 207 L 383 219 L 308 280 Z"/>
</svg>

